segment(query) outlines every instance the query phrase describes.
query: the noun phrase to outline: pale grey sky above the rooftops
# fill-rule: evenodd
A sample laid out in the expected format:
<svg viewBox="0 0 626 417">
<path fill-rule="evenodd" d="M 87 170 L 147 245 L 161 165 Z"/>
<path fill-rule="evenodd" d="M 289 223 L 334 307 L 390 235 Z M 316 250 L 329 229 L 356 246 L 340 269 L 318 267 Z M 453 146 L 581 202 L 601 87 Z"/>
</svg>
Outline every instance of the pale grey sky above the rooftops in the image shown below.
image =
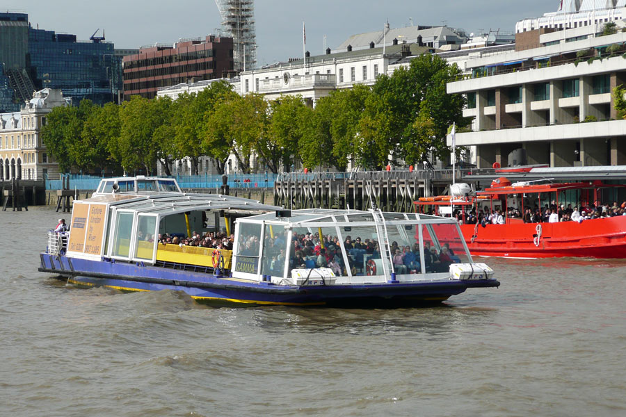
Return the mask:
<svg viewBox="0 0 626 417">
<path fill-rule="evenodd" d="M 515 22 L 554 12 L 560 0 L 257 0 L 257 64 L 299 58 L 305 22 L 307 50 L 323 54 L 350 35 L 413 24 L 464 28 L 467 33 L 515 31 Z M 0 10 L 28 13 L 34 28 L 72 33 L 88 40 L 97 30 L 116 48 L 217 34 L 214 0 L 0 0 Z"/>
</svg>

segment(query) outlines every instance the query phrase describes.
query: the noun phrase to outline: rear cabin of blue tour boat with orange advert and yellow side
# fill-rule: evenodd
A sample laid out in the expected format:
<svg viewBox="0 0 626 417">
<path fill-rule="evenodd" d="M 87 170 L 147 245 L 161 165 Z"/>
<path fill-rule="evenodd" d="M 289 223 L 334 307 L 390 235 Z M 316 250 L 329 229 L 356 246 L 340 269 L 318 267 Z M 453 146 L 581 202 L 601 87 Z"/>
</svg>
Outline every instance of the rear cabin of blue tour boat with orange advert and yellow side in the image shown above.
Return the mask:
<svg viewBox="0 0 626 417">
<path fill-rule="evenodd" d="M 141 181 L 138 179 L 136 186 L 141 187 Z M 154 184 L 158 185 L 158 181 Z M 200 235 L 221 232 L 230 236 L 236 218 L 276 210 L 280 207 L 227 195 L 174 192 L 97 195 L 74 202 L 66 253 L 68 257 L 82 259 L 104 258 L 213 271 L 216 261 L 222 263 L 220 267 L 227 268 L 232 251 L 163 244 L 159 243 L 159 235 L 184 238 L 195 231 Z"/>
</svg>

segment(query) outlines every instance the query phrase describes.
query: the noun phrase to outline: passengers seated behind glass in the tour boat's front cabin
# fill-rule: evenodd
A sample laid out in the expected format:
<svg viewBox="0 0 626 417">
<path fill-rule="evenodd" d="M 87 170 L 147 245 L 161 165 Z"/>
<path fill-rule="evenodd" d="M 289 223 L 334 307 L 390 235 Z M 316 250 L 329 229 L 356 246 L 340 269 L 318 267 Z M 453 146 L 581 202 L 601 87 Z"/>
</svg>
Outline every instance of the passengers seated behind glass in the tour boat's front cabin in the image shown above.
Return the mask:
<svg viewBox="0 0 626 417">
<path fill-rule="evenodd" d="M 275 237 L 266 235 L 264 259 L 266 264 L 264 271 L 271 275 L 282 276 L 285 264 L 285 236 L 278 234 Z M 380 246 L 374 239 L 361 240 L 360 237 L 353 239 L 346 236 L 344 247 L 348 254 L 347 267 L 352 275 L 364 275 L 367 268 L 364 265 L 370 259 L 380 259 Z M 258 254 L 258 242 L 254 237 L 245 239 L 241 254 Z M 396 274 L 417 274 L 422 272 L 422 259 L 417 243 L 412 247 L 398 245 L 392 242 L 392 262 Z M 257 251 L 257 252 L 255 252 Z M 294 234 L 289 251 L 289 270 L 294 268 L 330 268 L 337 276 L 348 275 L 344 256 L 342 256 L 339 238 L 337 236 L 323 236 L 318 233 Z M 431 246 L 429 241 L 424 243 L 424 257 L 426 272 L 448 272 L 451 263 L 459 262 L 457 256 L 445 243 L 441 250 Z M 377 275 L 382 275 L 381 271 Z"/>
</svg>

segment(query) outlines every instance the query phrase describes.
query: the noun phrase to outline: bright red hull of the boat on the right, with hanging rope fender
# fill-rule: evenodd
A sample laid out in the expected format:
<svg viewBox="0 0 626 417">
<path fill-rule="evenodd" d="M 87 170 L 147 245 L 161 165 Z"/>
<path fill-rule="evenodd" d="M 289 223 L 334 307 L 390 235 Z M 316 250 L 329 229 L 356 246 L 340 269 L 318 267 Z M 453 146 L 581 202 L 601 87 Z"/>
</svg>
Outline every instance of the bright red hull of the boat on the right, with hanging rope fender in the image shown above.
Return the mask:
<svg viewBox="0 0 626 417">
<path fill-rule="evenodd" d="M 477 256 L 626 258 L 626 216 L 581 223 L 463 224 L 461 231 L 470 253 Z"/>
</svg>

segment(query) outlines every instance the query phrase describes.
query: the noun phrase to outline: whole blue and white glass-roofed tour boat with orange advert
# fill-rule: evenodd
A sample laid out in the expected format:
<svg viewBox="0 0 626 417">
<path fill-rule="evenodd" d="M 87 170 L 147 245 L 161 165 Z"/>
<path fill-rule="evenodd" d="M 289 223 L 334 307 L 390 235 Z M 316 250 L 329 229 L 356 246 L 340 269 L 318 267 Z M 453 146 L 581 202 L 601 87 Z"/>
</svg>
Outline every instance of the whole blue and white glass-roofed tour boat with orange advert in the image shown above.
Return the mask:
<svg viewBox="0 0 626 417">
<path fill-rule="evenodd" d="M 232 251 L 154 238 L 192 230 L 230 235 L 233 227 Z M 307 234 L 317 234 L 319 252 L 331 251 L 331 263 L 294 260 L 294 240 Z M 376 242 L 379 250 L 350 250 L 348 236 Z M 172 179 L 103 179 L 93 197 L 74 202 L 69 233 L 49 232 L 39 270 L 78 286 L 183 291 L 199 302 L 239 305 L 399 306 L 499 286 L 487 265 L 472 262 L 466 245 L 456 251 L 462 263 L 445 270 L 419 263 L 425 243 L 439 251 L 453 240 L 460 240 L 458 224 L 431 215 L 285 211 L 228 195 L 181 193 Z M 410 270 L 394 265 L 394 244 L 419 248 Z"/>
</svg>

